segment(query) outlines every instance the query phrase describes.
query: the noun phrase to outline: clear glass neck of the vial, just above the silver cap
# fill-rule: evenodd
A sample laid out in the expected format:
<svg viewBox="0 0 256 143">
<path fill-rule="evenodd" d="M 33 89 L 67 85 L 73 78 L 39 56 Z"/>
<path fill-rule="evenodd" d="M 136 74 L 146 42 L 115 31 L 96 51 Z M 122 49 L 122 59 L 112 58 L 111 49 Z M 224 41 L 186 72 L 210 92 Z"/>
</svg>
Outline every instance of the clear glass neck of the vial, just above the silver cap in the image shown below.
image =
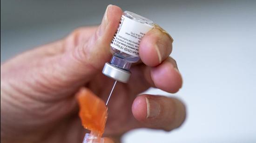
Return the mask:
<svg viewBox="0 0 256 143">
<path fill-rule="evenodd" d="M 118 56 L 112 56 L 110 64 L 122 68 L 125 70 L 129 70 L 131 68 L 131 62 L 126 61 L 124 58 L 118 57 Z"/>
</svg>

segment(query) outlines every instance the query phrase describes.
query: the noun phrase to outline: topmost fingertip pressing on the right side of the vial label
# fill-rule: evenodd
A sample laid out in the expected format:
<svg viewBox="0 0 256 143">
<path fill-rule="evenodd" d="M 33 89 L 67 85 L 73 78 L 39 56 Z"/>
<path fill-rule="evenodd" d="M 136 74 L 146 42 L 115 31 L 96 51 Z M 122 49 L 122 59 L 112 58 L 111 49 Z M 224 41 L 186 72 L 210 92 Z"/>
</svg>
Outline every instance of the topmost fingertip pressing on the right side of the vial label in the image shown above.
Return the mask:
<svg viewBox="0 0 256 143">
<path fill-rule="evenodd" d="M 142 39 L 139 48 L 141 61 L 155 67 L 171 54 L 172 40 L 159 29 L 152 29 Z"/>
</svg>

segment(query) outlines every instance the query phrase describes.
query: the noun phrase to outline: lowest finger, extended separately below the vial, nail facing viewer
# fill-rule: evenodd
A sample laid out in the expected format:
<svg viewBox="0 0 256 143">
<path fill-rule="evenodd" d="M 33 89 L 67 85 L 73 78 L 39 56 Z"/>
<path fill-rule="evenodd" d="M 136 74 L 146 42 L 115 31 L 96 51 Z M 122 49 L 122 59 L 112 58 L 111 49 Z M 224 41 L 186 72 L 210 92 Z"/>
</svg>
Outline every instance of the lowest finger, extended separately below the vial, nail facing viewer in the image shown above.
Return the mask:
<svg viewBox="0 0 256 143">
<path fill-rule="evenodd" d="M 186 117 L 185 106 L 180 100 L 148 94 L 134 100 L 132 112 L 144 127 L 165 131 L 178 128 Z"/>
</svg>

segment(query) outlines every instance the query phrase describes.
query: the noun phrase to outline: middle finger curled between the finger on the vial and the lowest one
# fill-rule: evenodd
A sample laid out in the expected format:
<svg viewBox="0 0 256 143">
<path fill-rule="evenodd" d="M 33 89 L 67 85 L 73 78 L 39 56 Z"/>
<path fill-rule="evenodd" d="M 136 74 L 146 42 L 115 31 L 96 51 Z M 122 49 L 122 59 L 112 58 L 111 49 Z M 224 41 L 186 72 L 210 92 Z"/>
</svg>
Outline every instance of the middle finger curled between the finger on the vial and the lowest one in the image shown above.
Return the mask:
<svg viewBox="0 0 256 143">
<path fill-rule="evenodd" d="M 133 74 L 127 84 L 130 92 L 137 95 L 149 87 L 157 87 L 169 93 L 177 92 L 182 86 L 182 77 L 177 70 L 176 61 L 168 57 L 161 65 L 162 67 L 159 65 L 154 68 L 145 64 L 132 67 Z"/>
</svg>

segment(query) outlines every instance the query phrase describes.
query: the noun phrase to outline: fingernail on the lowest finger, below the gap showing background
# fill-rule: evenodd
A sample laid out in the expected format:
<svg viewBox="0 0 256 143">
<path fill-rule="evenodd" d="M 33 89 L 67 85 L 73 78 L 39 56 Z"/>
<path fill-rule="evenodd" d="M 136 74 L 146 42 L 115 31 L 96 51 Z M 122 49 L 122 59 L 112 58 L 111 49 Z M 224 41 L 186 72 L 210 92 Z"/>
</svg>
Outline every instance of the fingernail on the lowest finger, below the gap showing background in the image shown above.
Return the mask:
<svg viewBox="0 0 256 143">
<path fill-rule="evenodd" d="M 148 99 L 147 102 L 147 118 L 154 118 L 160 113 L 160 105 L 153 99 Z"/>
</svg>

